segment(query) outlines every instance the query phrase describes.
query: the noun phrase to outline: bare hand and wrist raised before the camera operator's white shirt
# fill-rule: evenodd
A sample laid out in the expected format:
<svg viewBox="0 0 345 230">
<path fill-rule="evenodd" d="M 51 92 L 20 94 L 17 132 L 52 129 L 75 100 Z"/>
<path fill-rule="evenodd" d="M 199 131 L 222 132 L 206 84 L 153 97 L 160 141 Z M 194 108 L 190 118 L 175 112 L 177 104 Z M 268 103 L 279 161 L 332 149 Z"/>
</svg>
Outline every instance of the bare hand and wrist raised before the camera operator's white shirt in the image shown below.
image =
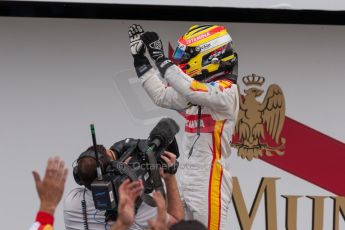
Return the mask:
<svg viewBox="0 0 345 230">
<path fill-rule="evenodd" d="M 142 181 L 125 180 L 119 187 L 118 219 L 113 230 L 127 229 L 134 222 L 135 201 L 143 191 Z"/>
</svg>

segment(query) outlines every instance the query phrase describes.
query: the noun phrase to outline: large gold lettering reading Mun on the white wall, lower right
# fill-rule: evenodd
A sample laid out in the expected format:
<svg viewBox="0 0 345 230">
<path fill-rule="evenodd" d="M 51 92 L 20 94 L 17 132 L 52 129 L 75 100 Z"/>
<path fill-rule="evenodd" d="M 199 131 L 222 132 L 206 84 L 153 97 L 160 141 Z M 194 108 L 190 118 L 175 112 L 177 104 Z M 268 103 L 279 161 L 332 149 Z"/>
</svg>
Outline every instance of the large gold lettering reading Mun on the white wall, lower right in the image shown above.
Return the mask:
<svg viewBox="0 0 345 230">
<path fill-rule="evenodd" d="M 257 210 L 265 197 L 265 217 L 260 216 L 258 218 L 265 218 L 266 230 L 277 230 L 277 196 L 276 196 L 276 180 L 280 178 L 275 177 L 263 177 L 261 178 L 259 187 L 256 191 L 254 201 L 250 206 L 250 203 L 246 203 L 248 198 L 244 199 L 241 187 L 237 177 L 233 178 L 233 193 L 232 204 L 236 212 L 236 217 L 240 225 L 241 230 L 251 230 L 253 227 L 254 219 L 256 218 Z M 312 200 L 312 230 L 324 230 L 330 229 L 330 226 L 324 226 L 324 206 L 325 199 L 331 198 L 333 200 L 333 228 L 332 230 L 340 229 L 340 221 L 345 221 L 345 197 L 341 196 L 300 196 L 300 195 L 281 195 L 286 200 L 285 210 L 285 229 L 286 230 L 300 230 L 297 228 L 298 221 L 306 221 L 305 219 L 298 220 L 298 199 L 306 197 Z M 251 207 L 248 211 L 247 207 Z M 280 213 L 280 215 L 284 213 Z M 341 219 L 342 218 L 342 219 Z M 345 224 L 345 223 L 344 223 Z M 280 230 L 281 228 L 279 228 Z"/>
</svg>

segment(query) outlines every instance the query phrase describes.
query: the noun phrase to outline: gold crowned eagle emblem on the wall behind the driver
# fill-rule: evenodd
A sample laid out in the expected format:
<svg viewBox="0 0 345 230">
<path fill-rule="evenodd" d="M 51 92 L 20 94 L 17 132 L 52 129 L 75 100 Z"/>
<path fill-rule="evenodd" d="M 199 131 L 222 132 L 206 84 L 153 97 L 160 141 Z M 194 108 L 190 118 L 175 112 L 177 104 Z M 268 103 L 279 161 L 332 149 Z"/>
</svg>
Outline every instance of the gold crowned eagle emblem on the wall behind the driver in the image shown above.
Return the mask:
<svg viewBox="0 0 345 230">
<path fill-rule="evenodd" d="M 249 88 L 240 97 L 240 111 L 232 146 L 238 155 L 252 160 L 263 154 L 283 155 L 285 138 L 280 137 L 285 120 L 285 99 L 281 88 L 272 84 L 262 102 L 257 101 L 264 91 L 260 86 L 265 78 L 256 74 L 242 78 Z"/>
</svg>

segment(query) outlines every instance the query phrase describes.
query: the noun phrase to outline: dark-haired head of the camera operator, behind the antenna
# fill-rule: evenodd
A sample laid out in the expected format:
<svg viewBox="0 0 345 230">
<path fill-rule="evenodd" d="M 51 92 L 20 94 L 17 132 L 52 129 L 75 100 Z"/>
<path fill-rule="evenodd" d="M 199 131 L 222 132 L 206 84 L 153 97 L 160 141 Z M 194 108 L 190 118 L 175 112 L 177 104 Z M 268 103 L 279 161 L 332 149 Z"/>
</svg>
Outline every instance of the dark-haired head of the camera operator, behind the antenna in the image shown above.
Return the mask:
<svg viewBox="0 0 345 230">
<path fill-rule="evenodd" d="M 94 147 L 90 146 L 86 149 L 86 151 L 93 150 Z M 107 150 L 103 145 L 96 146 L 97 152 L 100 154 L 99 162 L 104 172 L 105 168 L 110 162 L 109 157 L 107 156 Z M 96 159 L 93 157 L 83 157 L 78 161 L 78 177 L 83 181 L 86 188 L 91 189 L 91 183 L 97 177 L 97 169 L 96 169 Z"/>
</svg>

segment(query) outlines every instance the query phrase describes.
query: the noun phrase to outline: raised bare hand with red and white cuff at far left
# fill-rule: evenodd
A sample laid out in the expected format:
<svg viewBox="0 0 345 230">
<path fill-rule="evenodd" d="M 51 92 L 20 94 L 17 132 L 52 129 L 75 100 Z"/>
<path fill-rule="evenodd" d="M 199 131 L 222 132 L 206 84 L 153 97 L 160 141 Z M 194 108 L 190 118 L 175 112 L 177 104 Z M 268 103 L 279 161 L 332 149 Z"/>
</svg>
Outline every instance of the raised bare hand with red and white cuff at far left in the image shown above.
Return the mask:
<svg viewBox="0 0 345 230">
<path fill-rule="evenodd" d="M 30 230 L 52 229 L 54 212 L 65 189 L 67 178 L 65 163 L 59 157 L 49 158 L 43 180 L 38 172 L 33 171 L 32 174 L 40 198 L 40 210 Z"/>
</svg>

